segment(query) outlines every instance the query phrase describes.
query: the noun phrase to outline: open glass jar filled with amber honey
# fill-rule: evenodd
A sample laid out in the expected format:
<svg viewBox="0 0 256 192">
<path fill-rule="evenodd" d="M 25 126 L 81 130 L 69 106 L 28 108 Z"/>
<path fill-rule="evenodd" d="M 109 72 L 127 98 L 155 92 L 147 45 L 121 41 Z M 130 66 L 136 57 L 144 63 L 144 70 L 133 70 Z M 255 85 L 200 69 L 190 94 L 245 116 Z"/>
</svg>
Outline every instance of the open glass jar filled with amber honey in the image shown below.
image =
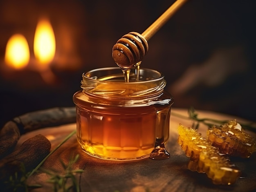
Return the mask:
<svg viewBox="0 0 256 192">
<path fill-rule="evenodd" d="M 135 73 L 130 73 L 128 83 L 119 67 L 83 74 L 82 90 L 73 101 L 77 139 L 86 153 L 134 160 L 149 157 L 157 143 L 167 142 L 173 97 L 164 91 L 164 75 L 147 68 L 139 74 L 136 82 Z"/>
</svg>

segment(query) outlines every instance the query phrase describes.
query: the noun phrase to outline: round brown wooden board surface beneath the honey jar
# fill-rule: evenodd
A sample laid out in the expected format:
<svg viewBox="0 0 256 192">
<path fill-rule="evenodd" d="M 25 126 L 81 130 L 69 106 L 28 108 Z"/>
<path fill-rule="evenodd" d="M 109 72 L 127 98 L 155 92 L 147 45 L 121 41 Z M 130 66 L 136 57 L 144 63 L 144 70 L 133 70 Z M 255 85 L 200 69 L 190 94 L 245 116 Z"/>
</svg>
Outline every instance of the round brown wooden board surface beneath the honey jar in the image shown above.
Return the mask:
<svg viewBox="0 0 256 192">
<path fill-rule="evenodd" d="M 199 117 L 232 120 L 238 123 L 244 121 L 238 117 L 198 110 Z M 110 161 L 91 157 L 81 151 L 73 135 L 66 143 L 56 150 L 43 164 L 43 168 L 53 168 L 61 172 L 60 159 L 68 162 L 69 159 L 80 154 L 74 169 L 80 168 L 84 172 L 77 175 L 82 192 L 251 192 L 256 191 L 256 154 L 248 159 L 231 159 L 240 168 L 242 177 L 233 185 L 214 185 L 206 174 L 191 172 L 186 168 L 189 158 L 185 156 L 177 144 L 177 126 L 191 126 L 192 121 L 174 115 L 178 113 L 187 116 L 186 109 L 172 109 L 170 122 L 170 137 L 166 149 L 171 157 L 166 160 L 152 160 L 149 158 L 136 161 Z M 68 124 L 53 128 L 43 128 L 29 132 L 20 138 L 19 144 L 26 139 L 42 134 L 55 148 L 70 132 L 76 129 L 76 124 Z M 200 126 L 199 132 L 204 135 L 207 127 Z M 254 133 L 251 133 L 254 137 Z M 29 183 L 43 185 L 35 192 L 53 191 L 52 184 L 47 183 L 49 176 L 38 172 L 29 179 Z"/>
</svg>

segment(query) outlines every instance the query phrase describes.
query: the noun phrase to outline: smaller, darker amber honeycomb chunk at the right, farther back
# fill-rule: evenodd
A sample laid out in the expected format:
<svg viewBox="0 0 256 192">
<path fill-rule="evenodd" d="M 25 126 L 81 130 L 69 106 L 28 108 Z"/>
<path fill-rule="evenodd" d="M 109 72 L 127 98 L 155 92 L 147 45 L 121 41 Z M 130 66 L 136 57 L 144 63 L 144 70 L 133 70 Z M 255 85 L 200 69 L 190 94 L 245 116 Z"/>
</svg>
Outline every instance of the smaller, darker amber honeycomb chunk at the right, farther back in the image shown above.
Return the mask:
<svg viewBox="0 0 256 192">
<path fill-rule="evenodd" d="M 244 132 L 236 119 L 220 127 L 213 126 L 207 130 L 207 137 L 220 152 L 231 156 L 247 158 L 256 151 L 254 138 Z"/>
</svg>

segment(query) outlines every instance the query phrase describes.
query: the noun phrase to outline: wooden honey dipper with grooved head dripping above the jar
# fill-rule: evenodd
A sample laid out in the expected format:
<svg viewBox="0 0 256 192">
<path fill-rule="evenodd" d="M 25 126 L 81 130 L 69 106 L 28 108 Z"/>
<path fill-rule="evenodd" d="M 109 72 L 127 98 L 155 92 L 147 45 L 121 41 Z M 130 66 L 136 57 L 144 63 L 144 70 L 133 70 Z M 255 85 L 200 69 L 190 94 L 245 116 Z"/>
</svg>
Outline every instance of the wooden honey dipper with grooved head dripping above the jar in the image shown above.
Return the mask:
<svg viewBox="0 0 256 192">
<path fill-rule="evenodd" d="M 169 7 L 146 31 L 139 34 L 130 32 L 124 35 L 113 46 L 112 57 L 121 69 L 139 66 L 148 52 L 148 40 L 171 18 L 171 16 L 186 2 L 177 0 Z"/>
</svg>

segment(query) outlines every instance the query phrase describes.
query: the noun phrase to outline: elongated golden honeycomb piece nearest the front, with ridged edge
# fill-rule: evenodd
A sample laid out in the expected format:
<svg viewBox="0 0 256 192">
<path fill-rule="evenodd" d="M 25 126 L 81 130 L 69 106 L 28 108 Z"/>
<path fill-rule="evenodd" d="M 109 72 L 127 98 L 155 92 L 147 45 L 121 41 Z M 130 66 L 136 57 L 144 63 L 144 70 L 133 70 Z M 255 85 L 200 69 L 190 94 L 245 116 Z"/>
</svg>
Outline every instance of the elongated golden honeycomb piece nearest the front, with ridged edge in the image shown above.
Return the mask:
<svg viewBox="0 0 256 192">
<path fill-rule="evenodd" d="M 178 143 L 187 157 L 190 157 L 188 169 L 206 173 L 214 184 L 229 185 L 240 176 L 240 170 L 232 165 L 227 157 L 221 155 L 218 148 L 211 145 L 201 134 L 181 124 L 178 127 Z"/>
</svg>

